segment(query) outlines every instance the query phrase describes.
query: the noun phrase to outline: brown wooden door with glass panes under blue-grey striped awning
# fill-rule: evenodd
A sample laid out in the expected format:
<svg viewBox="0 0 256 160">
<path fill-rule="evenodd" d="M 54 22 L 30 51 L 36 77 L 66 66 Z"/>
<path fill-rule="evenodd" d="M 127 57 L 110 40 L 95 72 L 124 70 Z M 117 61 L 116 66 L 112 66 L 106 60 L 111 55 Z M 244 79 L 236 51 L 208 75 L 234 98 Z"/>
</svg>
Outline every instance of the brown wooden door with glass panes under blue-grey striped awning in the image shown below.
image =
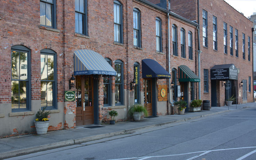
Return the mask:
<svg viewBox="0 0 256 160">
<path fill-rule="evenodd" d="M 77 113 L 76 126 L 94 123 L 93 116 L 93 78 L 81 75 L 76 78 Z"/>
</svg>

